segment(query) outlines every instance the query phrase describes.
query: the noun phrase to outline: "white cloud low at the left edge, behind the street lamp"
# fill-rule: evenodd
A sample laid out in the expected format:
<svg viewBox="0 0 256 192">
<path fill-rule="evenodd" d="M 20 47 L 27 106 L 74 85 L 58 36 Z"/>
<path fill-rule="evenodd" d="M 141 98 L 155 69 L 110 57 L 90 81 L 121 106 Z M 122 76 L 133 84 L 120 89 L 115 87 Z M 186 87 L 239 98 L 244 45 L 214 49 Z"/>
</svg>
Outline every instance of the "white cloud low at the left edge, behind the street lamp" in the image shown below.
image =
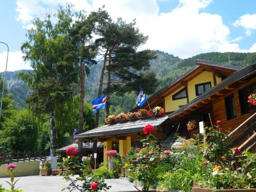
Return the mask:
<svg viewBox="0 0 256 192">
<path fill-rule="evenodd" d="M 17 71 L 22 69 L 32 69 L 29 63 L 24 62 L 21 51 L 9 52 L 7 71 Z M 5 71 L 7 51 L 0 53 L 0 72 Z"/>
</svg>

